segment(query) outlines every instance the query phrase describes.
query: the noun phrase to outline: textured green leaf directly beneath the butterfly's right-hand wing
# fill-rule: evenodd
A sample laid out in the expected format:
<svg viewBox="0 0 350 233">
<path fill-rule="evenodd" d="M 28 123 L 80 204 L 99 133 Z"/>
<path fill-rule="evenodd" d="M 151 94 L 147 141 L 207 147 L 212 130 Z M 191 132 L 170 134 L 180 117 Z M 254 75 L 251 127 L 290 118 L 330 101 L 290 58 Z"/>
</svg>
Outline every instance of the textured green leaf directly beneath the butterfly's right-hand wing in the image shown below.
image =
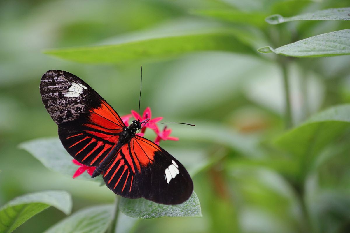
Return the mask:
<svg viewBox="0 0 350 233">
<path fill-rule="evenodd" d="M 202 217 L 201 204 L 195 192 L 184 203 L 179 205 L 162 205 L 144 198 L 129 199 L 121 197 L 120 211 L 133 218 L 160 217 Z"/>
</svg>

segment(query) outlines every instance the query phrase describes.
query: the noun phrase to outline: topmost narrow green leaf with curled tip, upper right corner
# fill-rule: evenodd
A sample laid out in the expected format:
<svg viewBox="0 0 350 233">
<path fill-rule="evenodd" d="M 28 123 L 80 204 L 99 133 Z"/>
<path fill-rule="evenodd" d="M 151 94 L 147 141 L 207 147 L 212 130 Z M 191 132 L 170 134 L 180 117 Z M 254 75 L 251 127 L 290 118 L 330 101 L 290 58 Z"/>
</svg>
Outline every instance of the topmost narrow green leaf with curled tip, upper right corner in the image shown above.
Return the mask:
<svg viewBox="0 0 350 233">
<path fill-rule="evenodd" d="M 296 20 L 350 20 L 350 7 L 331 8 L 319 10 L 314 13 L 306 13 L 293 17 L 283 17 L 279 14 L 268 16 L 265 21 L 269 24 L 279 24 Z"/>
</svg>

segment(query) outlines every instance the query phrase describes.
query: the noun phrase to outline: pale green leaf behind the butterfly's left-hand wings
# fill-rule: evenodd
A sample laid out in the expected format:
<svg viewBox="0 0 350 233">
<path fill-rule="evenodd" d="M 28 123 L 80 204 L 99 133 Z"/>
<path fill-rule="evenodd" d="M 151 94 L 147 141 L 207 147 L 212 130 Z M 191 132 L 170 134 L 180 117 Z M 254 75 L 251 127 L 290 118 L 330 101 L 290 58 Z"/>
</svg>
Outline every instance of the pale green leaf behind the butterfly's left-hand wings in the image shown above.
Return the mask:
<svg viewBox="0 0 350 233">
<path fill-rule="evenodd" d="M 56 138 L 39 138 L 31 141 L 21 143 L 19 147 L 28 151 L 42 164 L 53 170 L 54 172 L 62 173 L 64 175 L 73 176 L 79 166 L 75 165 L 72 156 L 62 146 L 61 141 Z M 91 179 L 91 176 L 84 172 L 76 179 L 84 179 L 89 181 L 102 182 L 100 176 Z"/>
</svg>

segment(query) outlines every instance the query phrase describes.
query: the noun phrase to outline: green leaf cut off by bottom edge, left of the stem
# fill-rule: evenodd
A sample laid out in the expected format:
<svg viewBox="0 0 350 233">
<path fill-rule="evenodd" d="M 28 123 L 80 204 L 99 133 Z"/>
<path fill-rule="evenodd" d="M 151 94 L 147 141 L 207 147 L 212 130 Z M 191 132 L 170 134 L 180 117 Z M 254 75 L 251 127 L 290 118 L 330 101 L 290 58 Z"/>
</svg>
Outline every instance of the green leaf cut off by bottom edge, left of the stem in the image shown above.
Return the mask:
<svg viewBox="0 0 350 233">
<path fill-rule="evenodd" d="M 44 233 L 104 233 L 113 219 L 113 205 L 85 208 L 63 219 Z"/>
</svg>

